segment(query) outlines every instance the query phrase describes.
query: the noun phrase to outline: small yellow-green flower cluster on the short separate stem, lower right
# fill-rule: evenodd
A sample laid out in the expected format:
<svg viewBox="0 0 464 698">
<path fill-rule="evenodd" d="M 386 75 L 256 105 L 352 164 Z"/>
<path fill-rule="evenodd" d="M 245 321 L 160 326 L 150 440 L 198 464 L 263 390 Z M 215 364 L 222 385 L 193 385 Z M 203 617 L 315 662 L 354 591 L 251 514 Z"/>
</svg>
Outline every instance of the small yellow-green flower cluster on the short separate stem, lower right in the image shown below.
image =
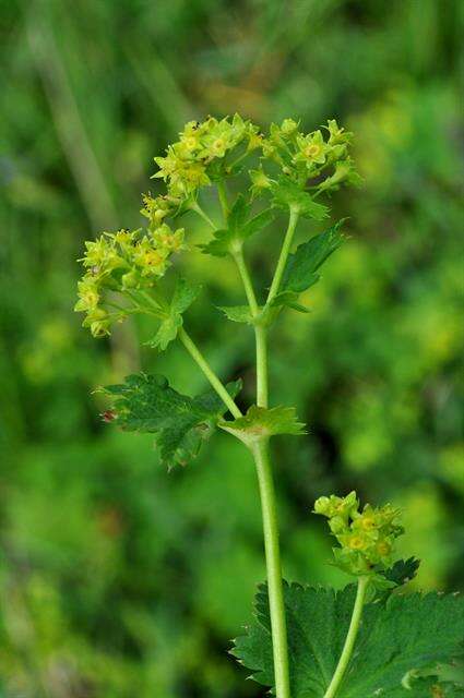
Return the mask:
<svg viewBox="0 0 464 698">
<path fill-rule="evenodd" d="M 390 504 L 374 508 L 367 504 L 359 512 L 356 492 L 346 497 L 320 497 L 314 513 L 328 517 L 341 547 L 333 550 L 337 566 L 360 576 L 384 569 L 392 561 L 394 540 L 403 533 L 397 525 L 398 509 Z"/>
</svg>

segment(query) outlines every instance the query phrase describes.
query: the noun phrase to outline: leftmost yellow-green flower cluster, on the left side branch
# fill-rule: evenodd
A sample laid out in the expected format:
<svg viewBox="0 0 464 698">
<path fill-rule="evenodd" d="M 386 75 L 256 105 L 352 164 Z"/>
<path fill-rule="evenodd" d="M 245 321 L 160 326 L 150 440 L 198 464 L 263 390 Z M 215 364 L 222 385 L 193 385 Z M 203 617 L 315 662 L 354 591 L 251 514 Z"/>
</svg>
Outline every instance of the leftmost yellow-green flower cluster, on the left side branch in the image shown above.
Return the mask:
<svg viewBox="0 0 464 698">
<path fill-rule="evenodd" d="M 148 233 L 118 230 L 86 242 L 81 260 L 86 272 L 78 284 L 79 301 L 74 308 L 86 314 L 83 326 L 90 327 L 94 337 L 109 335 L 111 325 L 124 320 L 136 303 L 120 306 L 108 298 L 108 292 L 132 298 L 132 292 L 152 287 L 165 274 L 171 254 L 182 246 L 183 229 L 172 230 L 164 222 Z"/>
</svg>

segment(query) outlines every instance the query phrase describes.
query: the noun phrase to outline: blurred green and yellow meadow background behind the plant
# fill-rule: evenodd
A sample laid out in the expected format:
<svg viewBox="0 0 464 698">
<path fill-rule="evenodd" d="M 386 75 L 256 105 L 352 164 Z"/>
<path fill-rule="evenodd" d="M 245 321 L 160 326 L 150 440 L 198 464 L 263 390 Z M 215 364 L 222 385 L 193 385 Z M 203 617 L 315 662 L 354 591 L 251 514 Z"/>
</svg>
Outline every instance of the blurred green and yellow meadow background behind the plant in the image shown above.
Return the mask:
<svg viewBox="0 0 464 698">
<path fill-rule="evenodd" d="M 104 425 L 92 389 L 139 366 L 187 393 L 205 385 L 180 348 L 140 348 L 147 325 L 97 341 L 72 312 L 83 241 L 140 225 L 153 156 L 207 113 L 308 130 L 336 117 L 366 180 L 334 196 L 352 239 L 308 294 L 313 312 L 288 312 L 272 336 L 272 394 L 310 429 L 275 444 L 286 577 L 346 581 L 310 508 L 356 488 L 404 508 L 416 586 L 461 586 L 463 7 L 1 2 L 4 698 L 264 695 L 226 653 L 264 577 L 250 459 L 218 435 L 167 474 L 150 437 Z M 262 287 L 282 232 L 266 234 Z M 247 400 L 252 337 L 211 310 L 241 302 L 235 272 L 183 263 L 207 281 L 189 329 L 224 377 L 243 377 Z"/>
</svg>

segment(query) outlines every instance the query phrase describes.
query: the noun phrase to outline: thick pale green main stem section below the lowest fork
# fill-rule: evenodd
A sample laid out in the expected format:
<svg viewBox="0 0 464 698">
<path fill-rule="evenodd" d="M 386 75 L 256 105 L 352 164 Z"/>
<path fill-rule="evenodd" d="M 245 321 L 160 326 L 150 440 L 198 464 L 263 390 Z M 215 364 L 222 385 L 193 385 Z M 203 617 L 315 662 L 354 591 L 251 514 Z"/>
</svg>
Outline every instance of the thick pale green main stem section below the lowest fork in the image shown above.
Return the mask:
<svg viewBox="0 0 464 698">
<path fill-rule="evenodd" d="M 267 440 L 258 442 L 253 446 L 252 452 L 257 466 L 263 517 L 275 691 L 276 698 L 290 698 L 287 627 L 285 622 L 284 589 L 278 545 L 278 525 Z"/>
</svg>

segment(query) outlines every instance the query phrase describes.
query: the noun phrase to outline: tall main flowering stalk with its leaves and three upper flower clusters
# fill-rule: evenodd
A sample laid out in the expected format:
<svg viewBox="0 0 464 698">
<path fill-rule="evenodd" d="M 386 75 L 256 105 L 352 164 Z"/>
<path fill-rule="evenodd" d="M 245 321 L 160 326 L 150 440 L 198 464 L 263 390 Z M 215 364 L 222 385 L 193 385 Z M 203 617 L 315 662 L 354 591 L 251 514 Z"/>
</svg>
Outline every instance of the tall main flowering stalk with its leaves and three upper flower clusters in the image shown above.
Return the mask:
<svg viewBox="0 0 464 698">
<path fill-rule="evenodd" d="M 169 388 L 163 376 L 131 375 L 124 384 L 106 388 L 111 397 L 116 396 L 107 420 L 117 421 L 126 430 L 155 433 L 160 459 L 169 466 L 188 465 L 215 425 L 250 449 L 261 498 L 277 698 L 290 698 L 292 676 L 269 440 L 276 434 L 300 435 L 304 424 L 297 421 L 295 408 L 269 408 L 267 333 L 283 308 L 307 312 L 298 302 L 299 294 L 319 280 L 318 269 L 343 242 L 341 221 L 310 238 L 290 255 L 298 220 L 329 217 L 329 207 L 316 202 L 317 196 L 360 182 L 349 155 L 350 142 L 352 134 L 334 119 L 324 127 L 324 133 L 320 129 L 305 133 L 297 121 L 284 119 L 281 125 L 271 124 L 264 134 L 237 113 L 231 119 L 209 117 L 203 122 L 188 122 L 179 140 L 166 149 L 166 156 L 155 157 L 159 169 L 154 178 L 163 179 L 166 186 L 156 196 L 143 196 L 146 229 L 105 232 L 95 242 L 85 243 L 81 260 L 84 276 L 78 284 L 79 301 L 74 308 L 85 313 L 83 326 L 90 327 L 94 337 L 110 335 L 116 323 L 134 313 L 154 318 L 158 328 L 150 346 L 164 351 L 178 337 L 216 393 L 216 399 L 211 395 L 190 399 Z M 250 169 L 250 159 L 257 161 L 257 156 L 259 169 Z M 230 202 L 235 180 L 246 172 L 248 186 Z M 216 190 L 222 210 L 219 225 L 204 210 L 202 190 L 206 186 Z M 266 228 L 279 208 L 288 215 L 287 231 L 261 304 L 246 262 L 245 243 Z M 243 314 L 241 309 L 237 313 L 235 308 L 229 320 L 254 328 L 255 405 L 246 416 L 234 400 L 238 390 L 230 394 L 183 326 L 182 313 L 197 299 L 199 289 L 178 276 L 170 291 L 166 273 L 172 266 L 171 255 L 182 250 L 192 253 L 185 229 L 175 229 L 178 219 L 190 212 L 212 229 L 212 241 L 199 245 L 203 254 L 230 256 L 243 285 L 248 311 L 245 309 Z M 229 315 L 227 309 L 222 310 Z M 217 398 L 234 420 L 222 419 L 225 410 L 221 411 Z M 386 518 L 390 522 L 391 517 Z M 379 539 L 377 545 L 388 546 L 386 539 Z M 379 562 L 389 558 L 389 552 Z"/>
</svg>

